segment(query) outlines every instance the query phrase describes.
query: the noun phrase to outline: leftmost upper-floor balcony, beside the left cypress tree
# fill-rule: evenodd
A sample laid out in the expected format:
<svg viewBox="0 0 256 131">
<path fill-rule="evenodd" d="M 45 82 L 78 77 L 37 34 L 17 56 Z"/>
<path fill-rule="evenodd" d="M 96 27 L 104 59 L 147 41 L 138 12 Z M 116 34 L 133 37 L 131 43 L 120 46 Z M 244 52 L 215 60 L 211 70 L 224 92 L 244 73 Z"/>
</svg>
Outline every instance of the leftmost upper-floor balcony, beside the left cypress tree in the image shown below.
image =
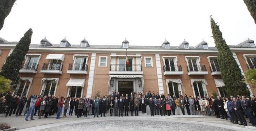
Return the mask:
<svg viewBox="0 0 256 131">
<path fill-rule="evenodd" d="M 23 63 L 19 72 L 36 74 L 37 68 L 38 68 L 38 64 L 36 63 Z"/>
</svg>

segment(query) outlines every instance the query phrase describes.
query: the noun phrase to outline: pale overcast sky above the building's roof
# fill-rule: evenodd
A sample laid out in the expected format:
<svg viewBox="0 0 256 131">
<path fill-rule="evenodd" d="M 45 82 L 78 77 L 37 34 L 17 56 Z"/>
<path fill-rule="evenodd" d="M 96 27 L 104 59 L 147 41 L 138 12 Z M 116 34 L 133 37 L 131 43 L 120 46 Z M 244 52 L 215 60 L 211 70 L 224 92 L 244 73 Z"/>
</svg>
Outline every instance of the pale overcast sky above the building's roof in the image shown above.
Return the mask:
<svg viewBox="0 0 256 131">
<path fill-rule="evenodd" d="M 171 46 L 183 40 L 195 46 L 204 39 L 215 46 L 209 16 L 220 25 L 228 45 L 256 41 L 256 25 L 243 0 L 17 0 L 0 37 L 19 41 L 33 29 L 31 44 L 64 37 L 80 44 Z"/>
</svg>

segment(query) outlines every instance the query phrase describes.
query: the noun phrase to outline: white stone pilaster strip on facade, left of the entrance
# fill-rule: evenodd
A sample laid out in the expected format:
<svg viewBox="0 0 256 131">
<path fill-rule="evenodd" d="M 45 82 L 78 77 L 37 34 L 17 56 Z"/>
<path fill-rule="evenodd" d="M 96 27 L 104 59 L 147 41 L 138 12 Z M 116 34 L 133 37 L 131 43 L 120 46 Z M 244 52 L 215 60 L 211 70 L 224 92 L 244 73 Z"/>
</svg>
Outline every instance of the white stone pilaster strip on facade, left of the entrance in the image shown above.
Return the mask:
<svg viewBox="0 0 256 131">
<path fill-rule="evenodd" d="M 92 85 L 93 85 L 93 76 L 94 76 L 94 68 L 95 68 L 95 59 L 96 59 L 96 53 L 92 53 L 86 97 L 92 97 Z"/>
</svg>

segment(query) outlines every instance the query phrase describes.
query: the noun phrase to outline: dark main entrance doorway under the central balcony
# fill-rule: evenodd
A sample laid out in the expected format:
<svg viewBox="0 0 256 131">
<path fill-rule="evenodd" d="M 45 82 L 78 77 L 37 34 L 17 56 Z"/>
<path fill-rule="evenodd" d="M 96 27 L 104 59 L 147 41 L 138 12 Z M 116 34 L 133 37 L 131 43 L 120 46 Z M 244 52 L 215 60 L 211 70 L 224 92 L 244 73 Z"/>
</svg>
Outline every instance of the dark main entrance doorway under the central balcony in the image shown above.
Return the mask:
<svg viewBox="0 0 256 131">
<path fill-rule="evenodd" d="M 128 94 L 128 96 L 131 95 L 131 92 L 133 92 L 133 81 L 118 81 L 118 92 L 120 92 L 120 95 Z"/>
</svg>

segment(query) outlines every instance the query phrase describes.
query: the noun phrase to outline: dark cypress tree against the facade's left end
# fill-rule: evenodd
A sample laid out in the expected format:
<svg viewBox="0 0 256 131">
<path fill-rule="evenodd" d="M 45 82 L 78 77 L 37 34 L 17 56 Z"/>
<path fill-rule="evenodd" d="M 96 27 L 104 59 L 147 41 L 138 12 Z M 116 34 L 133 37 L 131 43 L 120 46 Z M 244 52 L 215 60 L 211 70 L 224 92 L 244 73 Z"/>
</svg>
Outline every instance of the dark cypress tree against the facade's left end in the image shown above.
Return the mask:
<svg viewBox="0 0 256 131">
<path fill-rule="evenodd" d="M 32 34 L 32 29 L 24 34 L 2 67 L 0 75 L 12 80 L 12 84 L 17 84 L 19 80 L 19 69 L 21 69 L 22 62 L 25 60 L 24 57 L 29 50 Z"/>
</svg>

